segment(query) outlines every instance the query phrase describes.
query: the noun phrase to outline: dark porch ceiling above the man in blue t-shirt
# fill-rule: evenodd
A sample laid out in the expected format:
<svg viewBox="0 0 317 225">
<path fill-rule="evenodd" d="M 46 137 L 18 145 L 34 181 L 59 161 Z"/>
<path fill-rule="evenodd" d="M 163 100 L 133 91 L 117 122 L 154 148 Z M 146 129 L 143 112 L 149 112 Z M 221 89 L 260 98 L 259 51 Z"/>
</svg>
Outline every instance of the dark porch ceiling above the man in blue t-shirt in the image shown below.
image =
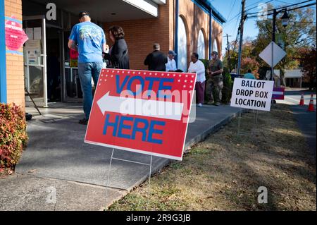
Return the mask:
<svg viewBox="0 0 317 225">
<path fill-rule="evenodd" d="M 120 20 L 137 20 L 154 18 L 151 14 L 132 6 L 123 0 L 33 0 L 39 4 L 56 4 L 57 8 L 77 15 L 88 11 L 94 20 L 111 22 Z M 154 4 L 154 3 L 153 3 Z M 113 15 L 113 13 L 116 13 Z"/>
</svg>

